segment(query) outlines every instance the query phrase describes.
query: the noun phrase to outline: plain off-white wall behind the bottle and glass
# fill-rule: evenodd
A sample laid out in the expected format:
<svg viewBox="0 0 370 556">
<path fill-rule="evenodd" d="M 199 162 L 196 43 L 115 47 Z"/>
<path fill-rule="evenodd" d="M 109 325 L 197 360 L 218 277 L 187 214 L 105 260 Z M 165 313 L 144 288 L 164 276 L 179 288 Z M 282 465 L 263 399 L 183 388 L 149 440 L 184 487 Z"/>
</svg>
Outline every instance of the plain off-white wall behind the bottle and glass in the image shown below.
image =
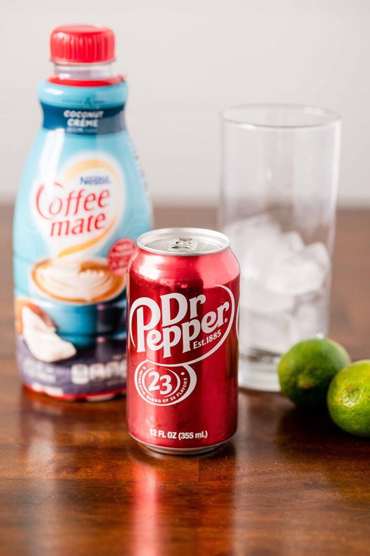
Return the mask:
<svg viewBox="0 0 370 556">
<path fill-rule="evenodd" d="M 217 201 L 221 108 L 296 102 L 341 113 L 340 201 L 370 204 L 369 0 L 12 0 L 1 12 L 0 200 L 14 197 L 40 125 L 51 29 L 102 23 L 157 202 Z"/>
</svg>

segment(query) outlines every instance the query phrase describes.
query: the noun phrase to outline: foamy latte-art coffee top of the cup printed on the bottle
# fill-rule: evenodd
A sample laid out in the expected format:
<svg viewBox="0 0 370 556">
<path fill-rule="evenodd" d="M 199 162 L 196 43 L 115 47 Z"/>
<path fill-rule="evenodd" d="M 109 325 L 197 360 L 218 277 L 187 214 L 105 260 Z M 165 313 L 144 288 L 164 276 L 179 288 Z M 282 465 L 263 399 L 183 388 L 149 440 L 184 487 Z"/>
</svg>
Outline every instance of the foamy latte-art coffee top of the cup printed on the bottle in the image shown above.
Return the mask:
<svg viewBox="0 0 370 556">
<path fill-rule="evenodd" d="M 32 294 L 71 305 L 110 301 L 125 289 L 126 276 L 113 274 L 105 257 L 44 259 L 31 267 Z"/>
</svg>

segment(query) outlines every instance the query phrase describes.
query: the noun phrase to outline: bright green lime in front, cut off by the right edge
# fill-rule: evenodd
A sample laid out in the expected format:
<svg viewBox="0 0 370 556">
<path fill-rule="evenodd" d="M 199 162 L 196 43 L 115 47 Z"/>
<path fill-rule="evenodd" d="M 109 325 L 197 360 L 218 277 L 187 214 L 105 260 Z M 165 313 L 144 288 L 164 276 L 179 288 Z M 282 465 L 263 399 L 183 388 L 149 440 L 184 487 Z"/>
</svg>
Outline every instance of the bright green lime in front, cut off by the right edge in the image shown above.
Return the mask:
<svg viewBox="0 0 370 556">
<path fill-rule="evenodd" d="M 328 390 L 334 423 L 357 436 L 370 436 L 370 359 L 352 363 L 334 376 Z"/>
</svg>

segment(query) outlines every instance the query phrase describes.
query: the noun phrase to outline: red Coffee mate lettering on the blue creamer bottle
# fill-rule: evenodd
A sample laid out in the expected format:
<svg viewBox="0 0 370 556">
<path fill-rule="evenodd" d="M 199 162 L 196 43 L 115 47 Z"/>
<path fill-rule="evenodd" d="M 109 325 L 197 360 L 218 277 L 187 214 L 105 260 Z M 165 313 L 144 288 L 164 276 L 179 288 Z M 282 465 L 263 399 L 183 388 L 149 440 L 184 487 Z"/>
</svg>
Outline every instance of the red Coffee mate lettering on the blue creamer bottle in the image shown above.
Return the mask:
<svg viewBox="0 0 370 556">
<path fill-rule="evenodd" d="M 45 185 L 41 185 L 36 193 L 37 212 L 50 221 L 51 237 L 75 236 L 105 227 L 110 190 L 94 192 L 91 188 L 80 187 L 67 192 L 61 183 L 53 185 L 60 191 L 59 194 L 49 196 Z"/>
</svg>

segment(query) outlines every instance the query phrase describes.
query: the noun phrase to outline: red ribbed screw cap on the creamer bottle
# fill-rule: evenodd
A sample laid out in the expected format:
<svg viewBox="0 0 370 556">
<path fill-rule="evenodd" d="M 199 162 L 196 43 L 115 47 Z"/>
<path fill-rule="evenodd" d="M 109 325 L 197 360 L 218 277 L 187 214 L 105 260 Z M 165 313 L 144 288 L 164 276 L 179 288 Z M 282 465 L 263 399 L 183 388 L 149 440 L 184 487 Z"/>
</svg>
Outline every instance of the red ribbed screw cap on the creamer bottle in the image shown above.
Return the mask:
<svg viewBox="0 0 370 556">
<path fill-rule="evenodd" d="M 56 63 L 98 63 L 115 59 L 115 36 L 102 25 L 63 25 L 50 36 L 50 59 Z"/>
</svg>

